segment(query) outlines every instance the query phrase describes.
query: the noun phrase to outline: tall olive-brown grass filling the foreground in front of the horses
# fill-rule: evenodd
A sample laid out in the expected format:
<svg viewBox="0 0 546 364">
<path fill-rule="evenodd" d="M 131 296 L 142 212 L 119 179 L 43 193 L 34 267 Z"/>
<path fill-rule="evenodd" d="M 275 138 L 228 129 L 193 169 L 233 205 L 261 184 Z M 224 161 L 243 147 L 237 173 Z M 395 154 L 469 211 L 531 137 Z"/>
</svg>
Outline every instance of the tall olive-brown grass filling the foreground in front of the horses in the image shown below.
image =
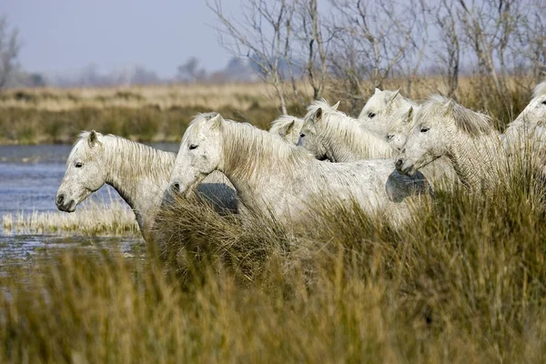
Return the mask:
<svg viewBox="0 0 546 364">
<path fill-rule="evenodd" d="M 4 279 L 0 361 L 543 362 L 542 183 L 500 185 L 437 191 L 403 227 L 318 204 L 299 238 L 177 204 L 165 264 L 150 247 Z"/>
</svg>

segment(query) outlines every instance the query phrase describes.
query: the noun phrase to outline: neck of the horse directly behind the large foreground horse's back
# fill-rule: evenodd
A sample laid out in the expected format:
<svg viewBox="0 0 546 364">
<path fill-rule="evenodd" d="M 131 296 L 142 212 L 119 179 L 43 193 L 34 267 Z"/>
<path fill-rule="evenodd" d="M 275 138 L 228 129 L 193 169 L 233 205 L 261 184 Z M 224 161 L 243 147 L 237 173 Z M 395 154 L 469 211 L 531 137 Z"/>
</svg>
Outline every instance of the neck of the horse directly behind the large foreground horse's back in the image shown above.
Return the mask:
<svg viewBox="0 0 546 364">
<path fill-rule="evenodd" d="M 322 142 L 326 147 L 326 156 L 332 162 L 352 162 L 374 157 L 391 157 L 392 148 L 378 135 L 357 120 L 331 118 L 333 127 L 325 127 Z"/>
</svg>

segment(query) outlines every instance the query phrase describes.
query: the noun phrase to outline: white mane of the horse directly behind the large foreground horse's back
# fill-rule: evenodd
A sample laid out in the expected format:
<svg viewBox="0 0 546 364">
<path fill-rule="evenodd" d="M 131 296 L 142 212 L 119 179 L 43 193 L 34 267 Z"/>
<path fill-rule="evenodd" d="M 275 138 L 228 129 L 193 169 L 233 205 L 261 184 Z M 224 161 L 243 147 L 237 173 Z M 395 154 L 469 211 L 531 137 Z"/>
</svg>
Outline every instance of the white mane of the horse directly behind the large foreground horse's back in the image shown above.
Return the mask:
<svg viewBox="0 0 546 364">
<path fill-rule="evenodd" d="M 351 150 L 359 150 L 369 155 L 364 158 L 390 157 L 392 155 L 392 147 L 383 137 L 361 126 L 359 120 L 354 117 L 329 106 L 325 99 L 313 101 L 308 106 L 305 120 L 313 116 L 319 108 L 322 109 L 322 118 L 324 119 L 320 123 L 322 130 L 320 133 L 327 136 L 329 140 L 337 140 L 347 145 Z"/>
</svg>

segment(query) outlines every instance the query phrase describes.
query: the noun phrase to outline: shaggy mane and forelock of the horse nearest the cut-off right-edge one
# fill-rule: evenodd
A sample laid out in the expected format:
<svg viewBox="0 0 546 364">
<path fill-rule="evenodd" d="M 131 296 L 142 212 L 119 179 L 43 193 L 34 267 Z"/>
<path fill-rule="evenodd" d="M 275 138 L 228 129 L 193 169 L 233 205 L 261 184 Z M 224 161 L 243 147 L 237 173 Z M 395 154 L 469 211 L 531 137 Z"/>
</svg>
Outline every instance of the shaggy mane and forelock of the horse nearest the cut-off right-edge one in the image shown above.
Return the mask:
<svg viewBox="0 0 546 364">
<path fill-rule="evenodd" d="M 415 120 L 450 117 L 457 128 L 470 136 L 490 135 L 494 132 L 490 116 L 472 111 L 455 101 L 440 95 L 430 96 L 417 112 Z M 417 124 L 416 123 L 416 124 Z"/>
</svg>

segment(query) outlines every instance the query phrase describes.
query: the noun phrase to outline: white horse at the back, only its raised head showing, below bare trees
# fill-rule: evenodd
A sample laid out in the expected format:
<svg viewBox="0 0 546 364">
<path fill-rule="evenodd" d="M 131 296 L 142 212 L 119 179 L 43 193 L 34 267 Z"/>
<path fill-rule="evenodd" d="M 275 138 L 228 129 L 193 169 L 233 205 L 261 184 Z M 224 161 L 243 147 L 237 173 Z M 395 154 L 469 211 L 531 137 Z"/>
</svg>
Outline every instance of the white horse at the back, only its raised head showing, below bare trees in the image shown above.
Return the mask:
<svg viewBox="0 0 546 364">
<path fill-rule="evenodd" d="M 368 102 L 359 114 L 360 125 L 372 130 L 379 135 L 386 136 L 389 133 L 389 124 L 393 116 L 399 112 L 407 112 L 410 107 L 419 107 L 414 101 L 401 96 L 399 90 L 381 91 L 375 89 L 375 93 L 369 97 Z"/>
</svg>

